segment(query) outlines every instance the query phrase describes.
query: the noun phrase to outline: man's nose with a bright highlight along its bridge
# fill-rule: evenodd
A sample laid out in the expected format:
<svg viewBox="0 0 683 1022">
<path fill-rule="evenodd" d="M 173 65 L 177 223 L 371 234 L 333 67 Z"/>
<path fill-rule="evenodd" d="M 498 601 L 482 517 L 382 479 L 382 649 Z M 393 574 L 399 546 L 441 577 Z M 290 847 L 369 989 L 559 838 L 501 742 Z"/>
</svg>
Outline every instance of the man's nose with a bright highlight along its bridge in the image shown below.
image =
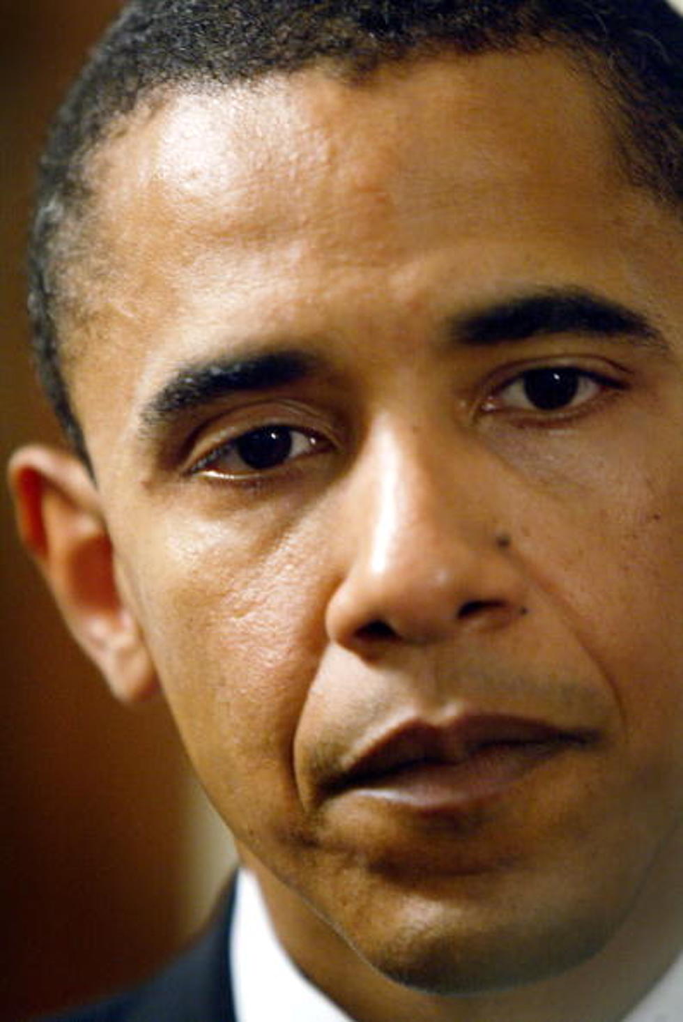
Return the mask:
<svg viewBox="0 0 683 1022">
<path fill-rule="evenodd" d="M 425 447 L 384 431 L 348 477 L 335 538 L 343 577 L 326 611 L 340 646 L 435 643 L 527 612 L 492 459 Z"/>
</svg>

